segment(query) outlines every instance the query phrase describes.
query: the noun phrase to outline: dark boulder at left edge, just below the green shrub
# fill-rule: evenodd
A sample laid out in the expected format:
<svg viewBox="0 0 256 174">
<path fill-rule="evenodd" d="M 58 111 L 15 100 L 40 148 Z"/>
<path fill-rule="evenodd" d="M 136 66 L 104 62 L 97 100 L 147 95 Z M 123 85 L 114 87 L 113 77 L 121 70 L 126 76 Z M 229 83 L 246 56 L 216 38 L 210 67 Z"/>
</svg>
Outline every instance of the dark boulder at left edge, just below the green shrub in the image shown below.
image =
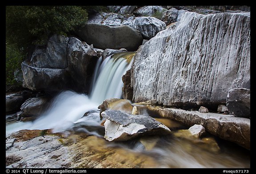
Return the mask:
<svg viewBox="0 0 256 174">
<path fill-rule="evenodd" d="M 5 96 L 5 113 L 14 113 L 30 97 L 28 93 L 13 93 Z"/>
</svg>

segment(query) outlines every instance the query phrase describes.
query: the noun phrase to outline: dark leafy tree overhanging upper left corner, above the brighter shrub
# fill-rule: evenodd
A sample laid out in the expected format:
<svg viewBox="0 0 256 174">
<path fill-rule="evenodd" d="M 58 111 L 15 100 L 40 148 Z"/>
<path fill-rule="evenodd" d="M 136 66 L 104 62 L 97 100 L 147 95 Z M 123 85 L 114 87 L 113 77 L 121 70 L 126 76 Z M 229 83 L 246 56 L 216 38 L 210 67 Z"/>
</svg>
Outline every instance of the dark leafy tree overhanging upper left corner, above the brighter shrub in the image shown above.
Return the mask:
<svg viewBox="0 0 256 174">
<path fill-rule="evenodd" d="M 6 40 L 26 53 L 31 44 L 44 45 L 53 34 L 67 35 L 87 19 L 79 6 L 6 6 Z"/>
</svg>

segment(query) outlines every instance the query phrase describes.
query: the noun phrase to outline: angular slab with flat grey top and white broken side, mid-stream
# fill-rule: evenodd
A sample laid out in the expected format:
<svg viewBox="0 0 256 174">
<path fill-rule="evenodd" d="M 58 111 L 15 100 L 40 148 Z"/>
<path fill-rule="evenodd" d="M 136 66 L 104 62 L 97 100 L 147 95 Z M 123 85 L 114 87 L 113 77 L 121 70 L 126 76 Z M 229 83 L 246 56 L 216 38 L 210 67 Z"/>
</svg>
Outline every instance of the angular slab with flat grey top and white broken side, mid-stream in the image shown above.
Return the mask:
<svg viewBox="0 0 256 174">
<path fill-rule="evenodd" d="M 132 115 L 120 111 L 104 111 L 104 138 L 108 141 L 125 141 L 139 135 L 168 134 L 170 129 L 151 116 Z"/>
</svg>

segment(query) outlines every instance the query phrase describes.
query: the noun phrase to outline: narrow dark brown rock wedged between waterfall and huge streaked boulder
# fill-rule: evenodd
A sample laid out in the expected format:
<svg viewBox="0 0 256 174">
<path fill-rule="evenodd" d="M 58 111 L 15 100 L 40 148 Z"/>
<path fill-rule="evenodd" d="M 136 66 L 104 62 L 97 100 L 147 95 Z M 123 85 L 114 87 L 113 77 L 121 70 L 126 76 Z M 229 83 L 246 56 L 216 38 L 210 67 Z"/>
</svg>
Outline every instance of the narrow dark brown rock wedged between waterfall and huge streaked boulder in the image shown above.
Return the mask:
<svg viewBox="0 0 256 174">
<path fill-rule="evenodd" d="M 124 86 L 122 87 L 122 97 L 129 101 L 132 101 L 133 88 L 131 86 L 131 69 L 128 69 L 122 76 Z"/>
</svg>

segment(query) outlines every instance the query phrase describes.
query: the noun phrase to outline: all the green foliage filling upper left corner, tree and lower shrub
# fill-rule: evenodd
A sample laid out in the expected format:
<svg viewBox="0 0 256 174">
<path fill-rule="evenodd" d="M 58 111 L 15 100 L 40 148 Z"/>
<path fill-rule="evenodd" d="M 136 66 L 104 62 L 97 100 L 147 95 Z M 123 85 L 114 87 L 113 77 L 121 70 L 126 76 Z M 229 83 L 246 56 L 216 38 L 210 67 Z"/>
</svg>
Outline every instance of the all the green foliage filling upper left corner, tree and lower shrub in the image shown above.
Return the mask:
<svg viewBox="0 0 256 174">
<path fill-rule="evenodd" d="M 6 6 L 6 87 L 19 86 L 14 72 L 21 70 L 32 45 L 44 45 L 53 34 L 69 35 L 88 19 L 80 6 Z M 98 7 L 100 9 L 100 7 Z M 20 85 L 21 86 L 21 85 Z"/>
</svg>

